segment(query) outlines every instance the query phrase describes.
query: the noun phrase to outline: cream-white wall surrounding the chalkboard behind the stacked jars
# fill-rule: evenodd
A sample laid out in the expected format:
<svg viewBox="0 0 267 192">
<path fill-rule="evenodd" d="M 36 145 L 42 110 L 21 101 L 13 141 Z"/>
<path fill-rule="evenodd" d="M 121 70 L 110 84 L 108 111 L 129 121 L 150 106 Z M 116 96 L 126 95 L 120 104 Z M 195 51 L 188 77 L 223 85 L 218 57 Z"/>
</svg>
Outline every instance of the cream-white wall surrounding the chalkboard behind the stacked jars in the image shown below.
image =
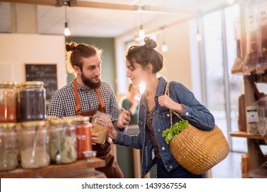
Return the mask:
<svg viewBox="0 0 267 192">
<path fill-rule="evenodd" d="M 25 81 L 25 63 L 57 64 L 58 88 L 66 85 L 64 36 L 0 34 L 0 81 Z"/>
</svg>

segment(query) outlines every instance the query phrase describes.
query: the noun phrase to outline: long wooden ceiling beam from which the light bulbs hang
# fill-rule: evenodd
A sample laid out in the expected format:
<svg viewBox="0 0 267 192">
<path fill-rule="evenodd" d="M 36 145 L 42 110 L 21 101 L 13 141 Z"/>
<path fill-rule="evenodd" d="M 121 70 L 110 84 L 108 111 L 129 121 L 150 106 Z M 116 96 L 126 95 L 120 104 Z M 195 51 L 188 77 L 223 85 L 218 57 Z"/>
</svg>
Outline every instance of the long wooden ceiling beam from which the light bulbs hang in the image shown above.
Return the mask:
<svg viewBox="0 0 267 192">
<path fill-rule="evenodd" d="M 3 0 L 2 2 L 58 6 L 57 0 Z M 81 8 L 97 8 L 97 9 L 109 9 L 109 10 L 129 10 L 129 11 L 142 10 L 145 12 L 157 12 L 165 14 L 196 14 L 196 10 L 162 8 L 150 5 L 138 6 L 138 5 L 127 5 L 127 4 L 115 4 L 115 3 L 99 3 L 95 1 L 76 1 L 75 6 Z"/>
</svg>

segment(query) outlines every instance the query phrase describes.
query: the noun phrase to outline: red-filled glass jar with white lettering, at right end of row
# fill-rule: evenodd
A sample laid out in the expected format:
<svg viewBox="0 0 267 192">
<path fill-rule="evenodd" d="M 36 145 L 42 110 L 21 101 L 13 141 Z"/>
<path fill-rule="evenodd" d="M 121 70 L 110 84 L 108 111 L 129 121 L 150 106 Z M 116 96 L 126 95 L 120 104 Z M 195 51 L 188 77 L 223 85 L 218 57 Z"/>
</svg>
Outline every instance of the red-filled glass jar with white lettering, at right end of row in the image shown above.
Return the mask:
<svg viewBox="0 0 267 192">
<path fill-rule="evenodd" d="M 76 128 L 77 136 L 77 158 L 83 159 L 82 152 L 92 151 L 92 125 L 89 122 L 90 117 L 75 117 L 73 124 Z"/>
</svg>

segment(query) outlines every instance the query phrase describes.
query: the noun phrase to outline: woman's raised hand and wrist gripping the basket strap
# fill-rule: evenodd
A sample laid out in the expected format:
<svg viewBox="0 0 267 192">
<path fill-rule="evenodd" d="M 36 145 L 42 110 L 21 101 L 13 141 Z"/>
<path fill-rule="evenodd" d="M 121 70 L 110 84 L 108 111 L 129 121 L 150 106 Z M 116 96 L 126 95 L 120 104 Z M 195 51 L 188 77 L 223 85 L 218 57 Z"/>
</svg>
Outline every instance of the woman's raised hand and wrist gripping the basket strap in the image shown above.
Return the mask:
<svg viewBox="0 0 267 192">
<path fill-rule="evenodd" d="M 173 101 L 173 99 L 168 97 L 168 95 L 162 95 L 160 97 L 157 97 L 157 101 L 162 107 L 174 110 L 176 112 L 179 112 L 180 114 L 183 113 L 183 106 Z"/>
</svg>

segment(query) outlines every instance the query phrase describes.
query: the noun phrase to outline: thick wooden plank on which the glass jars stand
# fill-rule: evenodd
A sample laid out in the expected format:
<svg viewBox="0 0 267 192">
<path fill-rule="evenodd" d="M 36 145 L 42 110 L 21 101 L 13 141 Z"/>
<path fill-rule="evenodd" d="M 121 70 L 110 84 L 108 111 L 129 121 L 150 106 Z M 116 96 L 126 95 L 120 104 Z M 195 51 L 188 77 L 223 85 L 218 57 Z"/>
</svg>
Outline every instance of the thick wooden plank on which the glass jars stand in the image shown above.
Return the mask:
<svg viewBox="0 0 267 192">
<path fill-rule="evenodd" d="M 12 171 L 0 172 L 0 178 L 34 178 L 37 176 L 66 173 L 82 169 L 90 169 L 105 166 L 105 160 L 92 158 L 89 160 L 77 160 L 75 163 L 65 165 L 49 165 L 40 169 L 14 169 Z"/>
</svg>

